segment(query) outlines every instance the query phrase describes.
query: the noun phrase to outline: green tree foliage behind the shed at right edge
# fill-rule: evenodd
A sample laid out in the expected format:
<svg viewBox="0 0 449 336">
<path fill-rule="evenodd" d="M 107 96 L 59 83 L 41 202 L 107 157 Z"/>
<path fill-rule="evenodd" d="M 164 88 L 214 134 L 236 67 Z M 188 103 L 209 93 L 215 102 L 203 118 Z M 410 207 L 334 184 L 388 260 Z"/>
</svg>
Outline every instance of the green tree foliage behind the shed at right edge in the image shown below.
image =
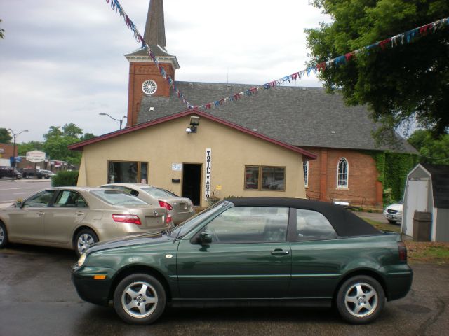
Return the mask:
<svg viewBox="0 0 449 336">
<path fill-rule="evenodd" d="M 449 134 L 434 139 L 428 130 L 416 130 L 408 142 L 420 152 L 420 163 L 449 165 Z"/>
</svg>

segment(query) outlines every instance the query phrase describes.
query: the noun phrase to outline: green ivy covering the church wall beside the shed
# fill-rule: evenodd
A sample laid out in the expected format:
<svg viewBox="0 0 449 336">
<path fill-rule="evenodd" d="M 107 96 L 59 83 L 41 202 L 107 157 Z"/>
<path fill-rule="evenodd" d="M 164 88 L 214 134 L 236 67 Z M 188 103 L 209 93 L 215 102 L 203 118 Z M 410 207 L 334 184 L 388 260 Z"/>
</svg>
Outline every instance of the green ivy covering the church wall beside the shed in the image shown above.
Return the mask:
<svg viewBox="0 0 449 336">
<path fill-rule="evenodd" d="M 418 156 L 410 153 L 370 152 L 376 162 L 379 176 L 384 188 L 384 205 L 402 200 L 408 173 L 418 163 Z"/>
</svg>

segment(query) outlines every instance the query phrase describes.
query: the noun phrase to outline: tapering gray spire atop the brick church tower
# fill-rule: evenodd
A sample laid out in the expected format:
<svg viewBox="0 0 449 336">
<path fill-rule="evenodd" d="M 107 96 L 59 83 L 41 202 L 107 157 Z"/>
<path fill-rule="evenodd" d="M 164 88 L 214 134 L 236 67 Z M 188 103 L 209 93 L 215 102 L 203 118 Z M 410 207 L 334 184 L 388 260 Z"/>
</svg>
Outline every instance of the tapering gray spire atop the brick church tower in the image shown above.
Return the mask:
<svg viewBox="0 0 449 336">
<path fill-rule="evenodd" d="M 163 0 L 149 1 L 147 23 L 143 39 L 147 45 L 166 48 L 166 27 L 163 22 Z M 151 48 L 151 47 L 150 47 Z"/>
</svg>

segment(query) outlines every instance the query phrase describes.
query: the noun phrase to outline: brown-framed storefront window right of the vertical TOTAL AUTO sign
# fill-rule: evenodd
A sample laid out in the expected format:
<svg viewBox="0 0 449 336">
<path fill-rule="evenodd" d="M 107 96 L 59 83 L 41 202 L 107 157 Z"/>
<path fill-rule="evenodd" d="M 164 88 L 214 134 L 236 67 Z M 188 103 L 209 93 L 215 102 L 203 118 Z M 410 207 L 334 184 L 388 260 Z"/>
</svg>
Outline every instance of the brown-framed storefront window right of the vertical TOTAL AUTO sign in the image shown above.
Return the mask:
<svg viewBox="0 0 449 336">
<path fill-rule="evenodd" d="M 245 190 L 286 190 L 286 167 L 245 167 Z"/>
</svg>

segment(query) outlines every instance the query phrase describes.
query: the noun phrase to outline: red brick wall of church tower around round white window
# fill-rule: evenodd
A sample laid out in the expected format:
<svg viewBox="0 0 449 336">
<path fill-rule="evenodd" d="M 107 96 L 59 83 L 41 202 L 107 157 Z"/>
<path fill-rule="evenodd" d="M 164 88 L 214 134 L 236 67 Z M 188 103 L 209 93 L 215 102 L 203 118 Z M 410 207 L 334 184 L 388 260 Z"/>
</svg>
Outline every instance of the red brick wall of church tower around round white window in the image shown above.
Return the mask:
<svg viewBox="0 0 449 336">
<path fill-rule="evenodd" d="M 170 64 L 161 64 L 163 69 L 175 80 L 175 71 Z M 170 86 L 163 79 L 159 69 L 153 62 L 131 62 L 129 66 L 128 83 L 128 118 L 127 126 L 133 126 L 138 123 L 138 113 L 140 111 L 140 102 L 142 101 L 142 83 L 145 80 L 154 80 L 157 84 L 157 90 L 154 97 L 169 97 Z"/>
</svg>

